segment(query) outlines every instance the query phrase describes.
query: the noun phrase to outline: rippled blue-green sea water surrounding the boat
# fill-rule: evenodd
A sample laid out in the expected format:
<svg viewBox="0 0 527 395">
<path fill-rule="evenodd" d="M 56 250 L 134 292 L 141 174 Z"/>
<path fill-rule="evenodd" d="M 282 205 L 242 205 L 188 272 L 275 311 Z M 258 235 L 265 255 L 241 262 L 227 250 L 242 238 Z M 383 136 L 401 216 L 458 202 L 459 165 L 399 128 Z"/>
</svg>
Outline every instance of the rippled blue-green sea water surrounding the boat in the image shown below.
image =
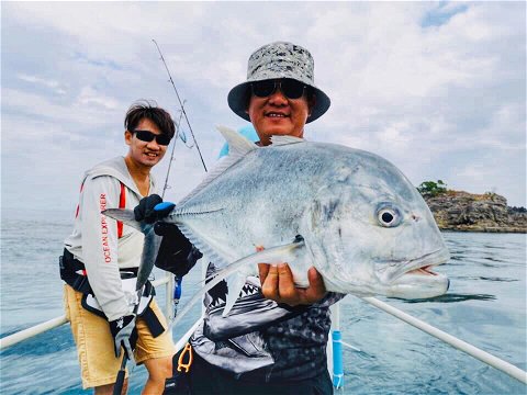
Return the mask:
<svg viewBox="0 0 527 395">
<path fill-rule="evenodd" d="M 63 312 L 58 256 L 71 230 L 64 212 L 7 212 L 1 218 L 0 337 Z M 437 271 L 450 278 L 448 293 L 426 302 L 380 297 L 395 307 L 523 370 L 526 354 L 526 236 L 444 233 L 451 252 Z M 161 271 L 155 271 L 162 278 Z M 199 286 L 194 269 L 183 281 L 181 305 Z M 165 304 L 164 286 L 158 302 Z M 200 314 L 173 330 L 178 339 Z M 341 302 L 345 386 L 337 394 L 526 394 L 508 375 L 348 295 Z M 131 370 L 130 394 L 146 381 Z M 90 394 L 68 325 L 0 351 L 0 394 Z"/>
</svg>

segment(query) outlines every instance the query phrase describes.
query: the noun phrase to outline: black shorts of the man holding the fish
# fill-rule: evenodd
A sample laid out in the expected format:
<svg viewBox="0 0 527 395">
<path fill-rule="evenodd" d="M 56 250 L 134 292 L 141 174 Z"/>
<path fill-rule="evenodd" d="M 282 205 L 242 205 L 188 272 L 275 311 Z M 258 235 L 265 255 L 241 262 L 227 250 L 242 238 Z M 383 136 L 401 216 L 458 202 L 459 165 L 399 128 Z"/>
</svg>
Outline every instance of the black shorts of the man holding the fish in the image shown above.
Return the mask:
<svg viewBox="0 0 527 395">
<path fill-rule="evenodd" d="M 167 379 L 165 395 L 330 395 L 333 383 L 327 370 L 312 379 L 280 382 L 237 380 L 233 373 L 211 365 L 197 352 L 189 373 L 177 372 L 179 352 L 173 357 L 173 377 Z"/>
</svg>

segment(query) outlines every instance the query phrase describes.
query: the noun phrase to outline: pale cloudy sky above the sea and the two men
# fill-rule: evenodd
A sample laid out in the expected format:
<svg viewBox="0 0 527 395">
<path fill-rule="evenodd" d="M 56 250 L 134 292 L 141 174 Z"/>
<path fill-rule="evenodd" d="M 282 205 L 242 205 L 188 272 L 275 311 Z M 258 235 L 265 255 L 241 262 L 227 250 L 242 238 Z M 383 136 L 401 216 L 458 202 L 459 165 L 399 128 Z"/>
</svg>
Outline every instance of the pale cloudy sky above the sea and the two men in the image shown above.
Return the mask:
<svg viewBox="0 0 527 395">
<path fill-rule="evenodd" d="M 315 59 L 329 111 L 305 137 L 366 149 L 418 185 L 495 192 L 526 206 L 525 2 L 1 2 L 1 206 L 74 213 L 82 173 L 126 155 L 124 114 L 155 100 L 176 121 L 172 75 L 204 161 L 258 47 Z M 189 126 L 181 132 L 191 145 Z M 169 155 L 154 173 L 161 184 Z M 181 139 L 165 199 L 204 177 Z"/>
</svg>

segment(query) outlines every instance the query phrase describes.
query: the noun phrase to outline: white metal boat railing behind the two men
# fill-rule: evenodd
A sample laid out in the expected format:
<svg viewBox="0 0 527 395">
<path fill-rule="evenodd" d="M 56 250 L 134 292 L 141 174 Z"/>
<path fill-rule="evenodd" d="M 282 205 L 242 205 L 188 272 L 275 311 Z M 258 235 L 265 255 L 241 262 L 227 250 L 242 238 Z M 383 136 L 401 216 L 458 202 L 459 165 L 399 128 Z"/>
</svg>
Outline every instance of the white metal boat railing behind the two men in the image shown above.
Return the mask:
<svg viewBox="0 0 527 395">
<path fill-rule="evenodd" d="M 172 309 L 172 290 L 173 290 L 173 278 L 168 275 L 164 279 L 153 281 L 155 286 L 166 285 L 166 305 L 165 313 L 167 317 L 173 316 Z M 483 351 L 457 337 L 449 335 L 421 319 L 413 317 L 412 315 L 400 311 L 391 306 L 385 302 L 381 302 L 375 297 L 362 297 L 362 301 L 371 304 L 372 306 L 380 308 L 381 311 L 393 315 L 394 317 L 401 319 L 402 321 L 414 326 L 417 329 L 423 330 L 424 332 L 450 345 L 451 347 L 468 353 L 469 356 L 486 363 L 487 365 L 495 368 L 503 373 L 508 374 L 511 377 L 516 379 L 517 381 L 527 384 L 527 372 L 515 366 L 514 364 L 506 362 L 491 353 Z M 177 341 L 176 349 L 179 351 L 183 348 L 184 343 L 195 330 L 198 325 L 201 323 L 201 317 L 192 325 L 192 327 Z M 49 319 L 45 323 L 35 325 L 33 327 L 20 330 L 15 334 L 5 336 L 0 339 L 0 350 L 3 350 L 8 347 L 14 346 L 23 340 L 35 337 L 42 332 L 45 332 L 49 329 L 59 327 L 68 323 L 65 315 Z M 343 368 L 343 352 L 341 348 L 348 347 L 356 349 L 354 346 L 346 343 L 341 340 L 340 335 L 340 302 L 332 306 L 332 341 L 328 342 L 327 354 L 328 354 L 328 370 L 333 375 L 333 383 L 336 388 L 343 387 L 344 384 L 344 368 Z"/>
</svg>

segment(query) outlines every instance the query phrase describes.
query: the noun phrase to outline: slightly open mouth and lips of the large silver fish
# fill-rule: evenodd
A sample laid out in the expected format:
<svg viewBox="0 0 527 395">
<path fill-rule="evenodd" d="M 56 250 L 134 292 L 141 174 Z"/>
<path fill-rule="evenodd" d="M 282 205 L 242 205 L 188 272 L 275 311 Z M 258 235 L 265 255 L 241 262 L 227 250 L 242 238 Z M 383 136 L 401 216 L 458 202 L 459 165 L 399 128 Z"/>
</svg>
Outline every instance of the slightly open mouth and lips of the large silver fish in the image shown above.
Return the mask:
<svg viewBox="0 0 527 395">
<path fill-rule="evenodd" d="M 390 261 L 375 264 L 375 271 L 384 284 L 393 283 L 405 274 L 438 275 L 431 269 L 450 259 L 446 248 L 437 249 L 422 257 L 406 261 Z"/>
</svg>

